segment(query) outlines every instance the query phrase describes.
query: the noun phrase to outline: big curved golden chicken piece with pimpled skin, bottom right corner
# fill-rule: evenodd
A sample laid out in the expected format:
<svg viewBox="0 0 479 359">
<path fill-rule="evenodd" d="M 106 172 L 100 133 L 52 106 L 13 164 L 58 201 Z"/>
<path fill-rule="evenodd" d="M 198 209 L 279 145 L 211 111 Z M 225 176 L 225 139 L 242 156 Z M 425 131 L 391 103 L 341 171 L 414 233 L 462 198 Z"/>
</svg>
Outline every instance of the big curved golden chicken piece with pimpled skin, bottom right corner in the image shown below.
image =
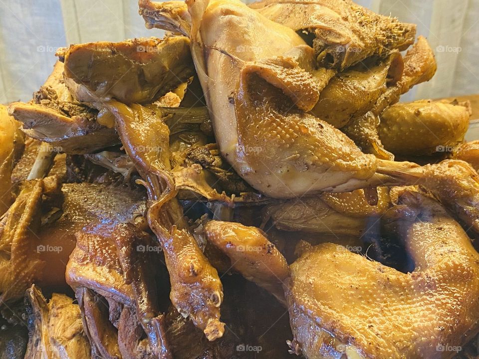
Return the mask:
<svg viewBox="0 0 479 359">
<path fill-rule="evenodd" d="M 387 225 L 405 241 L 412 273 L 334 244 L 291 265 L 286 298 L 306 358 L 443 358 L 437 346 L 462 346 L 477 332 L 479 255 L 470 239 L 432 199 L 406 191 L 399 200 Z"/>
</svg>

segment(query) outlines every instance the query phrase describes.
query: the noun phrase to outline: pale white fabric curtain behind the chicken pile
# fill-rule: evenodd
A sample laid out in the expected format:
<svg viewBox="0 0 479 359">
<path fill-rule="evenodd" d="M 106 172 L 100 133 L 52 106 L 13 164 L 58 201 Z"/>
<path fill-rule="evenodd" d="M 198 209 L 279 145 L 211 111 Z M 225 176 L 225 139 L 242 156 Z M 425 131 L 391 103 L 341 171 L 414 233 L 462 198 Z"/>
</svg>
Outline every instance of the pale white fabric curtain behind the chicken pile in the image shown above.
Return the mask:
<svg viewBox="0 0 479 359">
<path fill-rule="evenodd" d="M 418 24 L 436 49 L 438 72 L 403 97 L 479 93 L 479 0 L 357 0 Z M 136 0 L 0 0 L 0 103 L 29 100 L 69 43 L 161 37 L 147 30 Z"/>
</svg>

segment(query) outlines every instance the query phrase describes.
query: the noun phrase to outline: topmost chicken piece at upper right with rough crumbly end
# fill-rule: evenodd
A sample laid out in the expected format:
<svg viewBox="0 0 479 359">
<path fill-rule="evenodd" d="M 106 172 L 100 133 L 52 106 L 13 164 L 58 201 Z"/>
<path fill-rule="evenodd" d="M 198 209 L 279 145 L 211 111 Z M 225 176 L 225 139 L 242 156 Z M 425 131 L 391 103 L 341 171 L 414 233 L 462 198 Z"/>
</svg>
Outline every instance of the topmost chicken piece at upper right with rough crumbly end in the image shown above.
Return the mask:
<svg viewBox="0 0 479 359">
<path fill-rule="evenodd" d="M 372 55 L 405 50 L 416 35 L 416 25 L 376 14 L 351 0 L 264 0 L 249 6 L 294 31 L 314 33 L 319 63 L 340 70 Z"/>
</svg>

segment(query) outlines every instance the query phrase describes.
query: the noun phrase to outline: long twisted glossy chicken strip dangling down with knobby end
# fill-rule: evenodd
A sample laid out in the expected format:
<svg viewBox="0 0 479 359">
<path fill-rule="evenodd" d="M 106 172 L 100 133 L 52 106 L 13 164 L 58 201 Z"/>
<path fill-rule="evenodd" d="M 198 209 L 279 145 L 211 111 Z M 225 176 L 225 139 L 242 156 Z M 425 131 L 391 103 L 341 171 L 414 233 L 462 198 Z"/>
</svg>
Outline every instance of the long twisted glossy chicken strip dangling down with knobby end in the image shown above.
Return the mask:
<svg viewBox="0 0 479 359">
<path fill-rule="evenodd" d="M 220 322 L 223 289 L 217 270 L 208 262 L 190 233 L 175 197 L 178 189 L 170 173 L 169 129 L 155 105 L 106 105 L 128 156 L 143 177 L 148 192 L 148 223 L 165 253 L 170 274 L 170 299 L 213 341 L 224 333 Z"/>
</svg>

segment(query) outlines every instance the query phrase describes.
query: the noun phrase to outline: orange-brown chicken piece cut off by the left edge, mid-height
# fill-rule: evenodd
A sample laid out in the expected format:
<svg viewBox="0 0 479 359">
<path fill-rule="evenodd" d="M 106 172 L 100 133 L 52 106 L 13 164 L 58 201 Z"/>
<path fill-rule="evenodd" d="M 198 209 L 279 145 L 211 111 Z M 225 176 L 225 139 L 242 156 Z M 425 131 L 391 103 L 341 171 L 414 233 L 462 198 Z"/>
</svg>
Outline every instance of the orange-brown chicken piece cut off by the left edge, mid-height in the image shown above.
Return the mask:
<svg viewBox="0 0 479 359">
<path fill-rule="evenodd" d="M 20 124 L 0 105 L 0 216 L 13 203 L 11 175 L 24 147 Z"/>
</svg>

